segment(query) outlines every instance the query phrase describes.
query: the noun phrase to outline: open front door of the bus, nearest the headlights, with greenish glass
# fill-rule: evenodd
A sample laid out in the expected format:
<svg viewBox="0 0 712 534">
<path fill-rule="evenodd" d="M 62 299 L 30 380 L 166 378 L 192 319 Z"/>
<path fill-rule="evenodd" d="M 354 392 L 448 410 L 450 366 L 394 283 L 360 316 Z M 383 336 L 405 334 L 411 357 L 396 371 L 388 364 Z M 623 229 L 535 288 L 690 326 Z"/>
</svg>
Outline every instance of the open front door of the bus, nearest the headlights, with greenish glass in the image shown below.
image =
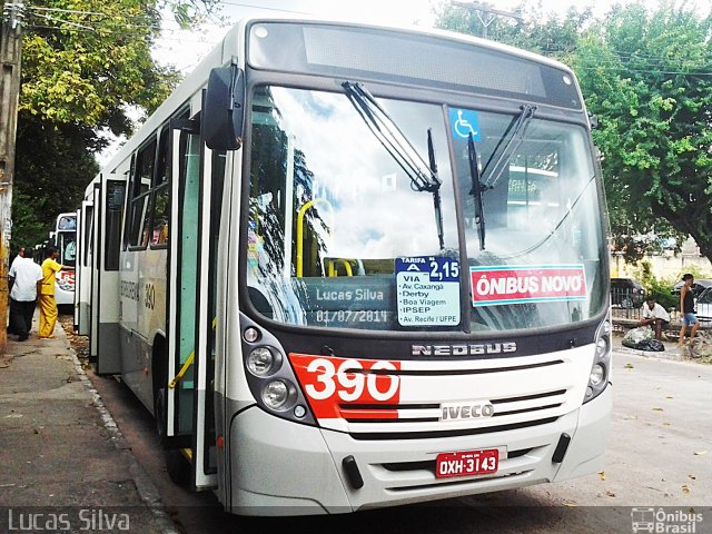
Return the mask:
<svg viewBox="0 0 712 534">
<path fill-rule="evenodd" d="M 172 120 L 169 140 L 171 216 L 169 226 L 167 436 L 180 444 L 196 490 L 217 484 L 212 357 L 208 349 L 210 256 L 210 168 L 206 167 L 197 120 Z M 208 398 L 210 397 L 210 398 Z"/>
</svg>

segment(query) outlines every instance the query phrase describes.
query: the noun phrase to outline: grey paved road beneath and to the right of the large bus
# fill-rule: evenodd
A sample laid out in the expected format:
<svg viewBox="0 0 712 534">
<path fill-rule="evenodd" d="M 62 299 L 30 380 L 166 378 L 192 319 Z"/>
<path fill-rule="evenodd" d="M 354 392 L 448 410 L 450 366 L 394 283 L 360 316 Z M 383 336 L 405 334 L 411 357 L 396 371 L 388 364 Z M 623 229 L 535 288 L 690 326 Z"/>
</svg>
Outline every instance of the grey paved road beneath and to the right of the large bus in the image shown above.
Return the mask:
<svg viewBox="0 0 712 534">
<path fill-rule="evenodd" d="M 250 520 L 221 512 L 211 494 L 172 484 L 157 454 L 152 421 L 116 379 L 91 376 L 103 402 L 158 486 L 177 526 L 189 534 L 268 532 L 609 533 L 632 532 L 631 507 L 702 513 L 712 533 L 712 366 L 616 353 L 614 411 L 605 471 L 560 484 L 335 517 Z M 676 520 L 668 518 L 675 532 Z M 681 531 L 676 531 L 681 532 Z"/>
</svg>

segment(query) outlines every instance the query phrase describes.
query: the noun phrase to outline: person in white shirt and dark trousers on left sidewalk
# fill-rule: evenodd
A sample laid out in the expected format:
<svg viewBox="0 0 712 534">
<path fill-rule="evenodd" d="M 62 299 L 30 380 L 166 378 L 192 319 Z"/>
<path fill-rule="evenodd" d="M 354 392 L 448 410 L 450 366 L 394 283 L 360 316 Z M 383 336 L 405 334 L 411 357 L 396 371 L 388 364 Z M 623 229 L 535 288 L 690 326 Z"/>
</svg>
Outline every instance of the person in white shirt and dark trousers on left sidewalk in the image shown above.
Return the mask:
<svg viewBox="0 0 712 534">
<path fill-rule="evenodd" d="M 20 259 L 12 261 L 10 267 L 10 327 L 18 335 L 18 342 L 30 337 L 32 316 L 37 306 L 37 288 L 42 280 L 42 268 L 34 263 L 31 248 L 23 250 Z"/>
</svg>

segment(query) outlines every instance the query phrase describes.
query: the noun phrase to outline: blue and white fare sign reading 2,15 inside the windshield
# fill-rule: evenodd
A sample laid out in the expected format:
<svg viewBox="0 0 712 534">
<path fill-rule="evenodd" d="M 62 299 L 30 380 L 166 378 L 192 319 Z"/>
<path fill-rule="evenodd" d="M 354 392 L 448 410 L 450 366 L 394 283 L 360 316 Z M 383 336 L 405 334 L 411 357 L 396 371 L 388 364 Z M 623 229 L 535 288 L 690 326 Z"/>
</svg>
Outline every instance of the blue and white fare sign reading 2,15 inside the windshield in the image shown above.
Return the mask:
<svg viewBox="0 0 712 534">
<path fill-rule="evenodd" d="M 416 256 L 396 258 L 396 295 L 400 326 L 459 324 L 459 261 Z"/>
</svg>

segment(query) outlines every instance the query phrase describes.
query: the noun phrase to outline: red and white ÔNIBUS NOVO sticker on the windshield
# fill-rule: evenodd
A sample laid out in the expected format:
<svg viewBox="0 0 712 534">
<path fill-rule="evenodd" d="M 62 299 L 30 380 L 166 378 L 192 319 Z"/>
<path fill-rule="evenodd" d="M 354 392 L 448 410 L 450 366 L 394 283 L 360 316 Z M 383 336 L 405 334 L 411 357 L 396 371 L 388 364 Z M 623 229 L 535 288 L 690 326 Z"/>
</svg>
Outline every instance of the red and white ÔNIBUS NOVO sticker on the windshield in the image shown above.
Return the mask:
<svg viewBox="0 0 712 534">
<path fill-rule="evenodd" d="M 473 306 L 585 300 L 583 265 L 471 267 Z"/>
</svg>

